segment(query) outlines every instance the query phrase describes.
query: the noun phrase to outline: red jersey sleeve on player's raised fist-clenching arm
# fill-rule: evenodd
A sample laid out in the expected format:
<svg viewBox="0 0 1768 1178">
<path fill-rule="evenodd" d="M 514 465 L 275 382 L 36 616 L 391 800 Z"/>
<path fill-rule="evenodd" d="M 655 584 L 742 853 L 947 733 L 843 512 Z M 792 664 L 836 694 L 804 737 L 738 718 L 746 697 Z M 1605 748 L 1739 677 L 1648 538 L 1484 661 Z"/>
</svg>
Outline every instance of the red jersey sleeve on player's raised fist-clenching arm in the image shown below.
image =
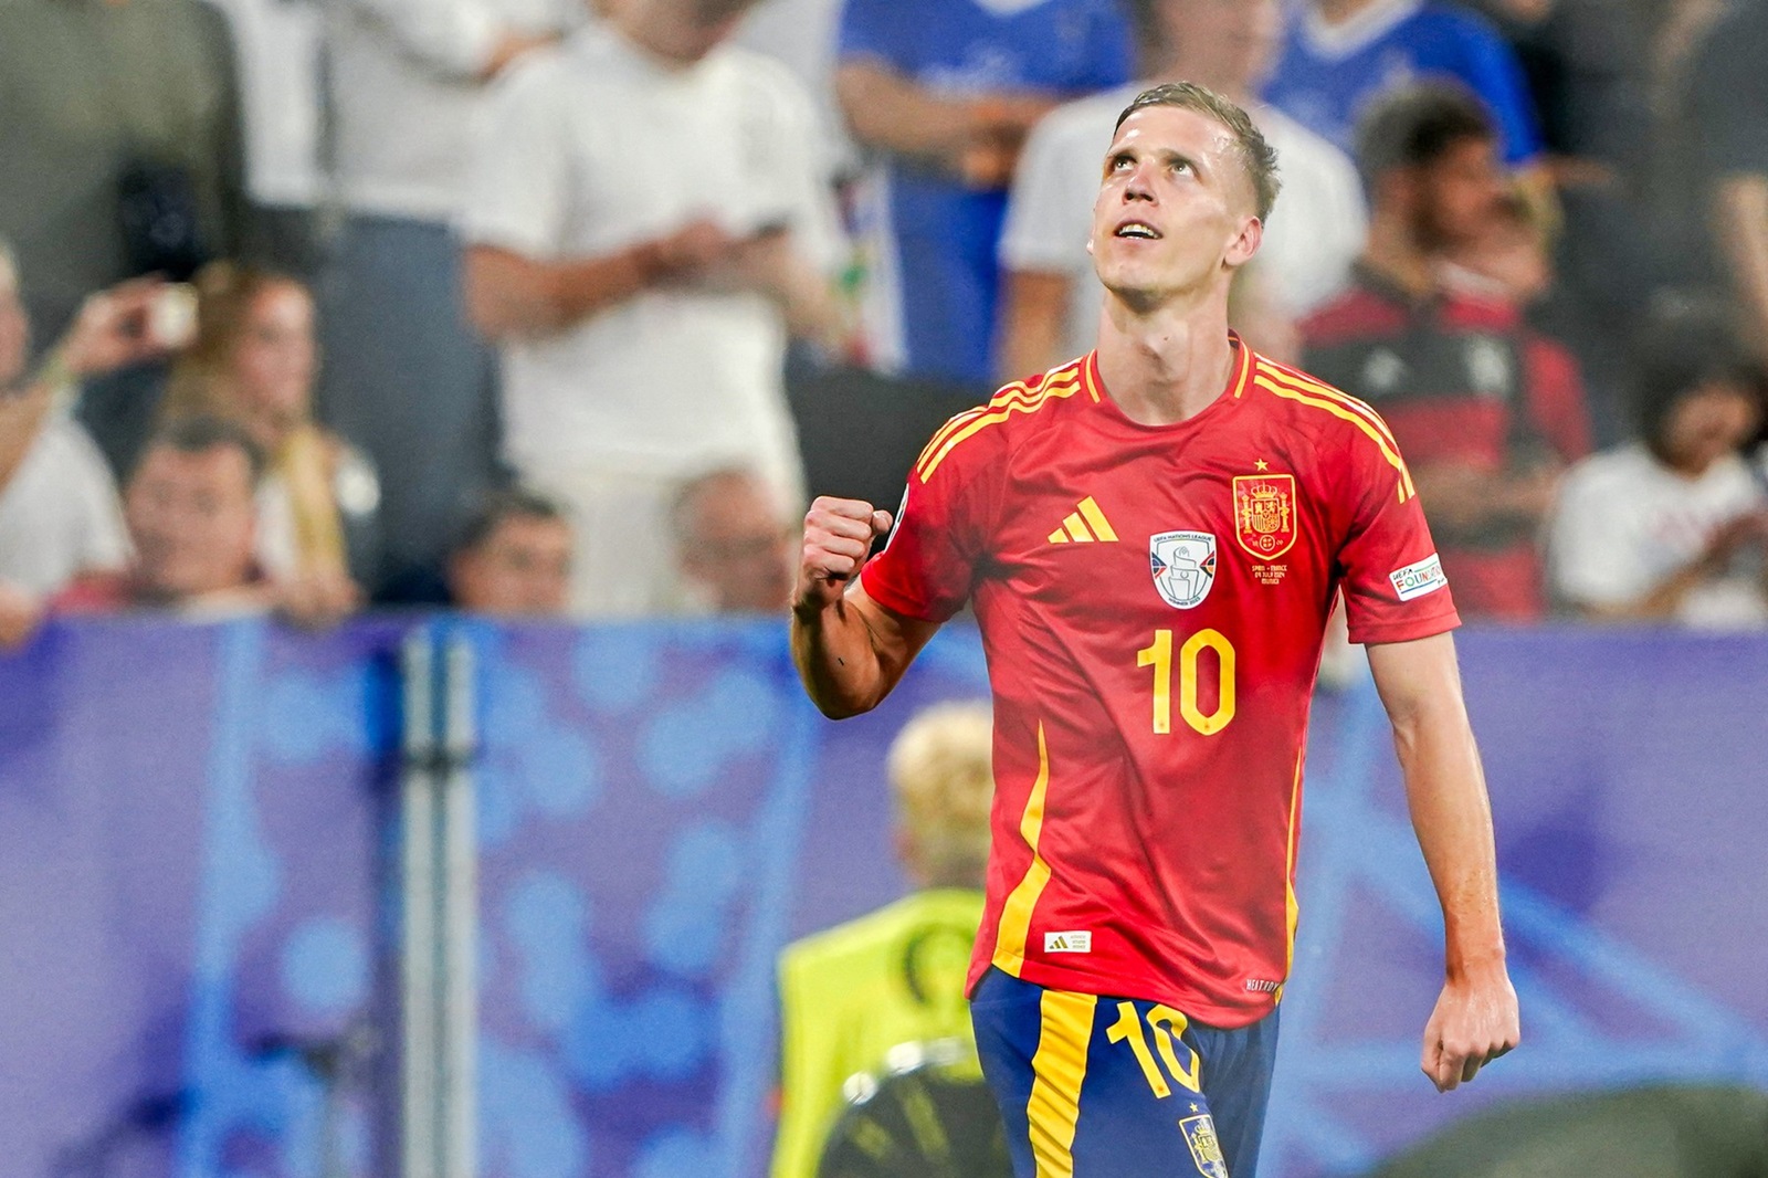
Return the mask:
<svg viewBox="0 0 1768 1178">
<path fill-rule="evenodd" d="M 928 442 L 884 552 L 859 575 L 866 596 L 905 617 L 942 623 L 956 614 L 987 559 L 1001 483 L 997 435 L 964 439 L 971 417 L 958 414 Z"/>
</svg>

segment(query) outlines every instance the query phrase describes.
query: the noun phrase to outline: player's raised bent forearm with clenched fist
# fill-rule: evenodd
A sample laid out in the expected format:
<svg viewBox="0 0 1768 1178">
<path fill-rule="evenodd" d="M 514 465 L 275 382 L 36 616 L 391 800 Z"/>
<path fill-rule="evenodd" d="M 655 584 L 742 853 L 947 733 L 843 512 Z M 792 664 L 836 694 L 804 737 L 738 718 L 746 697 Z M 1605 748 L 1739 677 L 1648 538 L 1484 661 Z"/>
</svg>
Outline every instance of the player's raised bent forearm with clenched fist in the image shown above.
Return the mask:
<svg viewBox="0 0 1768 1178">
<path fill-rule="evenodd" d="M 804 516 L 792 662 L 804 692 L 831 720 L 877 708 L 939 630 L 939 623 L 879 605 L 859 584 L 872 541 L 889 525 L 889 511 L 857 499 L 819 497 Z"/>
</svg>

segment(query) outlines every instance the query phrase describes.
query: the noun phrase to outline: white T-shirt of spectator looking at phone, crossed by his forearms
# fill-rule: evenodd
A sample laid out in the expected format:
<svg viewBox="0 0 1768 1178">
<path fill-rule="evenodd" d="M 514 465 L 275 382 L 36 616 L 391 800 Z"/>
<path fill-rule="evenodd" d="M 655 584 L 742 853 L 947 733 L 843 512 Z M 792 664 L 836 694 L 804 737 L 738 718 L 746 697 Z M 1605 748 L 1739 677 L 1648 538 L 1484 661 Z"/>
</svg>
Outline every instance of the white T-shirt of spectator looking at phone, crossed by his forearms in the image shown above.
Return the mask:
<svg viewBox="0 0 1768 1178">
<path fill-rule="evenodd" d="M 552 262 L 713 218 L 734 235 L 783 226 L 829 269 L 836 228 L 817 143 L 810 96 L 778 62 L 725 44 L 667 69 L 612 28 L 585 28 L 493 94 L 465 235 Z M 502 357 L 506 451 L 520 470 L 797 469 L 785 324 L 762 295 L 652 288 Z"/>
</svg>

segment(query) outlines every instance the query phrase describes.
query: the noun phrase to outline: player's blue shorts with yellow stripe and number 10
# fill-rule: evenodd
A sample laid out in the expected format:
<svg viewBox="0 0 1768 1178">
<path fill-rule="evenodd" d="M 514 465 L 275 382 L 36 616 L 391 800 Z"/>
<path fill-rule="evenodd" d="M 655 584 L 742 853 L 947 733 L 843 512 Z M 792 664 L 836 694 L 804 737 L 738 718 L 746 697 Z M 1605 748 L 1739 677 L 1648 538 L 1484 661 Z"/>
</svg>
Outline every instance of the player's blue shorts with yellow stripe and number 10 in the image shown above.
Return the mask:
<svg viewBox="0 0 1768 1178">
<path fill-rule="evenodd" d="M 990 969 L 971 1021 L 1015 1178 L 1255 1178 L 1275 1010 L 1222 1031 Z"/>
</svg>

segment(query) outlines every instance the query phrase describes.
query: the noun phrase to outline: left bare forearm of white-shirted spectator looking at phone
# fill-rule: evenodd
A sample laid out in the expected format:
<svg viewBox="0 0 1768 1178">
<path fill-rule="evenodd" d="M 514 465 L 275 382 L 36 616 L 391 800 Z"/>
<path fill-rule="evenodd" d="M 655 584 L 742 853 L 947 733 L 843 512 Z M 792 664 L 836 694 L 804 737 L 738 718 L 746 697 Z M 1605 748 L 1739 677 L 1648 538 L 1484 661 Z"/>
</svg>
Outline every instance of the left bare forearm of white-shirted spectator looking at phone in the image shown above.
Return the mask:
<svg viewBox="0 0 1768 1178">
<path fill-rule="evenodd" d="M 490 340 L 550 336 L 644 292 L 658 269 L 640 244 L 598 258 L 537 262 L 509 249 L 467 251 L 467 311 Z"/>
</svg>

